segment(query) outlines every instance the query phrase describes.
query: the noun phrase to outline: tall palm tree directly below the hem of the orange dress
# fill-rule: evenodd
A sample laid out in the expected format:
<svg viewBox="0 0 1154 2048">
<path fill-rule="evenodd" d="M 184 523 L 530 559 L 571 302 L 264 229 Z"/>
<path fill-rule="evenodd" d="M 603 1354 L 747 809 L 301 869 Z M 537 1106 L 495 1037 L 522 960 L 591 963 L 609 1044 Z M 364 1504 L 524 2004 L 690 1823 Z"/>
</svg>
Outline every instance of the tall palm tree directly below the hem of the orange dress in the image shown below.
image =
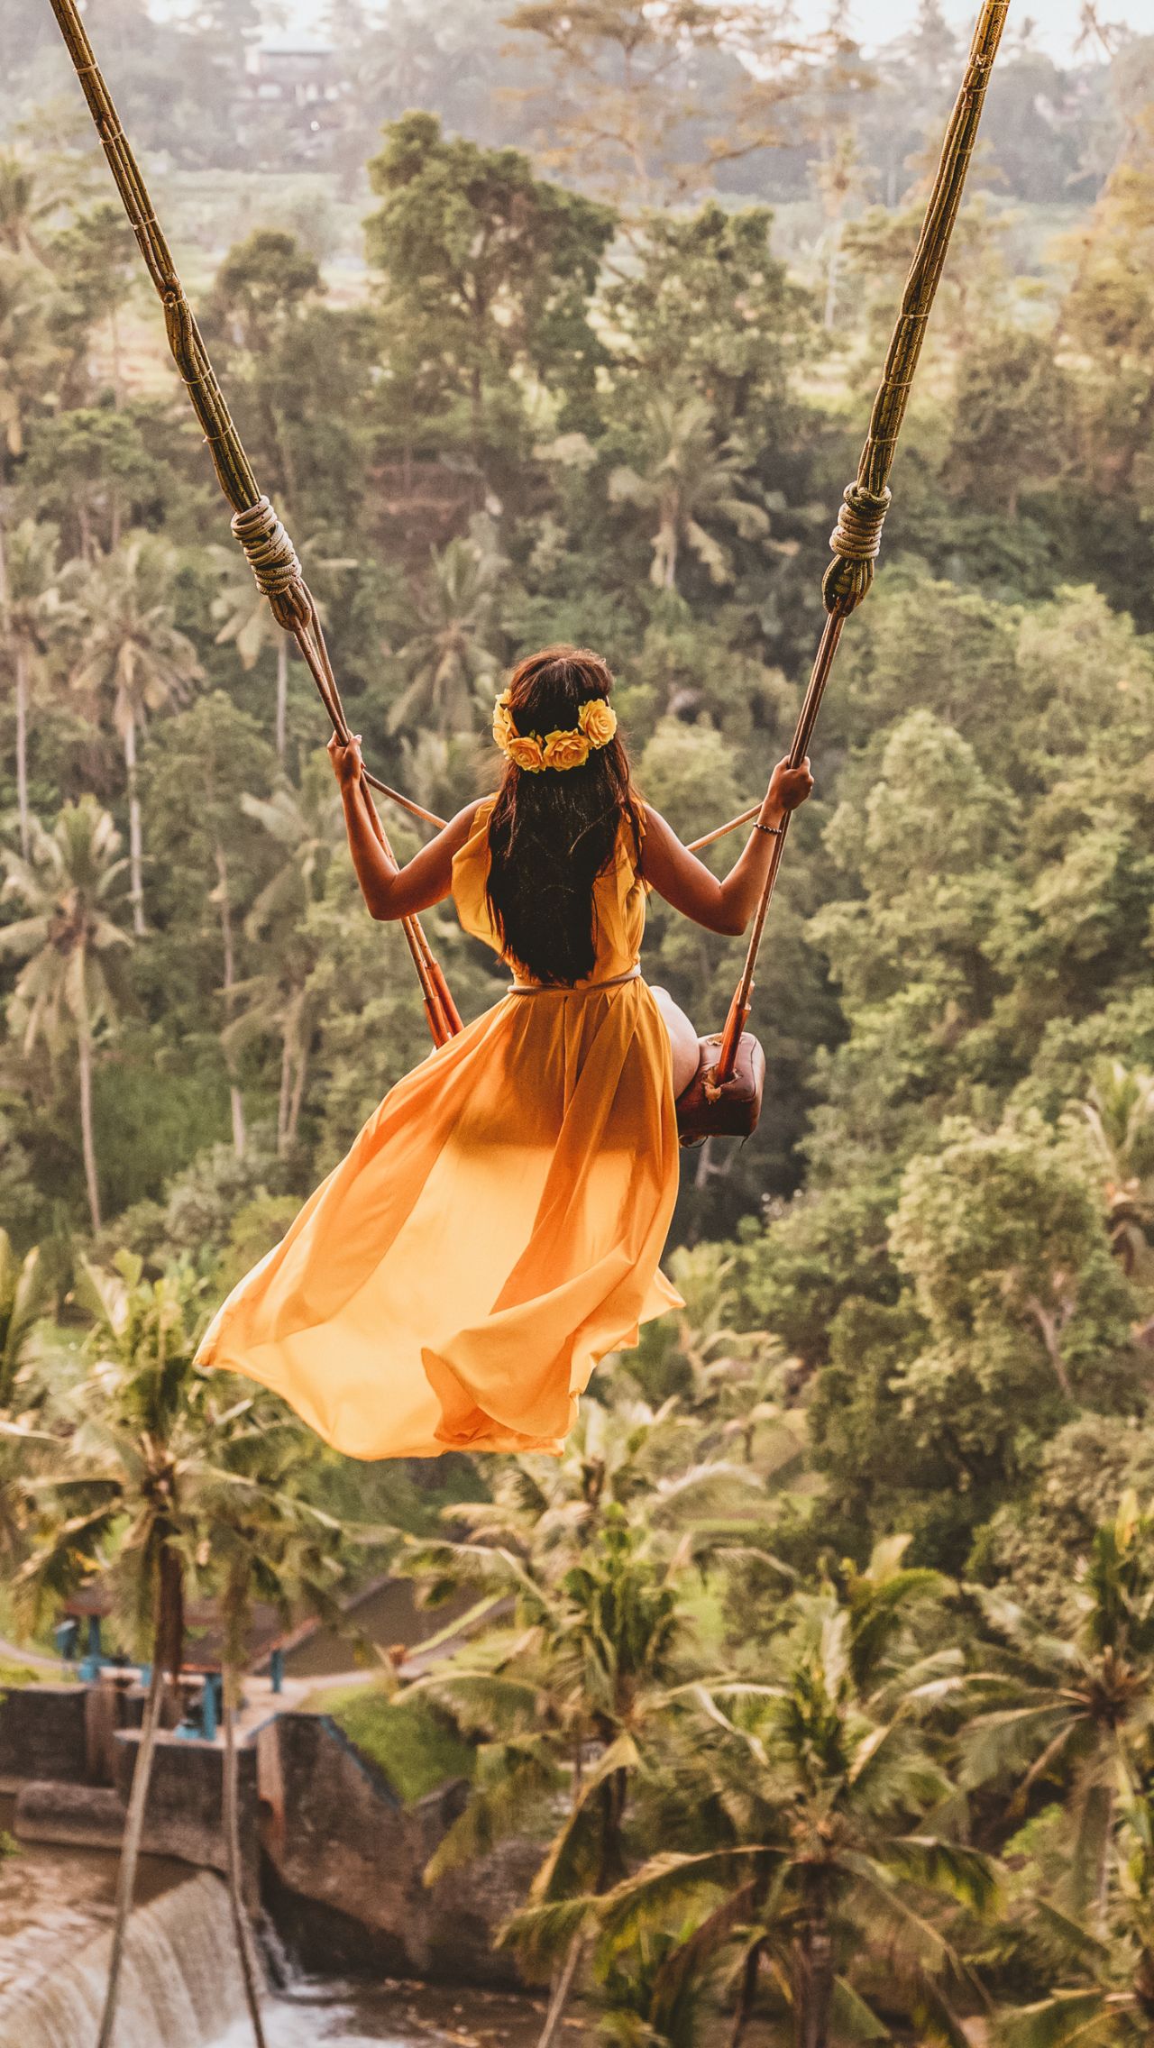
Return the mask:
<svg viewBox="0 0 1154 2048">
<path fill-rule="evenodd" d="M 537 1808 L 551 1829 L 529 1905 L 508 1927 L 555 1964 L 541 2036 L 553 2042 L 588 1950 L 594 1903 L 625 1872 L 631 1788 L 652 1763 L 683 1673 L 687 1575 L 701 1516 L 750 1511 L 744 1468 L 693 1460 L 672 1405 L 588 1401 L 562 1458 L 498 1470 L 492 1499 L 457 1503 L 467 1534 L 424 1542 L 408 1569 L 439 1595 L 469 1587 L 488 1618 L 469 1649 L 418 1686 L 482 1737 L 476 1790 L 430 1876 L 465 1862 Z M 486 1612 L 488 1610 L 488 1612 Z M 558 1800 L 564 1821 L 555 1823 Z"/>
</svg>

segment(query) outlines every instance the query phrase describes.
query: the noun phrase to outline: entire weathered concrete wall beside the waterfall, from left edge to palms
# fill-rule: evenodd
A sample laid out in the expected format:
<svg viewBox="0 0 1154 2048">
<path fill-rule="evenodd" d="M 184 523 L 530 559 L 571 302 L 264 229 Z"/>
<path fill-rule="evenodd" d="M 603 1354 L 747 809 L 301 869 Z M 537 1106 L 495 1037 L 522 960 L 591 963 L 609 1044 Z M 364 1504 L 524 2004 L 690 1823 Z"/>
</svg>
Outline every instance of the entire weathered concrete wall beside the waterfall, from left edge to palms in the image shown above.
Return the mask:
<svg viewBox="0 0 1154 2048">
<path fill-rule="evenodd" d="M 115 1714 L 131 1704 L 117 1704 Z M 98 1688 L 12 1690 L 0 1700 L 0 1776 L 20 1782 L 25 1841 L 119 1847 L 139 1735 L 111 1722 Z M 305 1968 L 517 1985 L 494 1933 L 521 1905 L 541 1849 L 508 1841 L 437 1886 L 424 1868 L 465 1804 L 451 1784 L 402 1806 L 322 1714 L 277 1714 L 238 1755 L 244 1884 L 260 1890 Z M 225 1870 L 223 1749 L 160 1735 L 143 1849 Z"/>
</svg>

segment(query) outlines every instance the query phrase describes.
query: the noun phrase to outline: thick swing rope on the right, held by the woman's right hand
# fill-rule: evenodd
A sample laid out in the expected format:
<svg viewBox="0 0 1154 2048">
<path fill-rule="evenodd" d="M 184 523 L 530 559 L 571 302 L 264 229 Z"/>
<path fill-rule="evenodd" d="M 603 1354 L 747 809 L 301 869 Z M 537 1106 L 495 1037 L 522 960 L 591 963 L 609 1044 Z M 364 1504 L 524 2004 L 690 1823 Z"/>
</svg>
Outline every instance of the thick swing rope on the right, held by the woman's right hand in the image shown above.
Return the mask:
<svg viewBox="0 0 1154 2048">
<path fill-rule="evenodd" d="M 881 528 L 885 524 L 885 514 L 890 512 L 890 471 L 898 453 L 898 436 L 910 403 L 910 391 L 914 387 L 914 375 L 922 342 L 926 338 L 926 324 L 953 238 L 965 178 L 974 160 L 986 90 L 998 55 L 998 45 L 1002 41 L 1002 31 L 1006 27 L 1008 6 L 1011 0 L 984 0 L 978 27 L 974 29 L 965 78 L 961 80 L 961 92 L 957 94 L 957 104 L 945 133 L 918 248 L 890 340 L 881 385 L 873 401 L 869 434 L 861 451 L 857 477 L 844 492 L 838 522 L 830 535 L 834 559 L 830 561 L 822 582 L 826 625 L 818 643 L 810 688 L 806 690 L 806 700 L 797 717 L 793 745 L 789 748 L 791 768 L 799 768 L 810 752 L 810 741 L 814 737 L 822 696 L 826 694 L 826 684 L 834 668 L 844 623 L 851 612 L 865 602 L 873 588 L 873 573 L 881 553 Z M 746 811 L 746 819 L 752 815 L 754 813 Z M 734 819 L 732 825 L 724 825 L 719 834 L 713 834 L 713 838 L 722 838 L 738 823 L 742 823 L 742 819 Z M 738 987 L 734 989 L 717 1061 L 709 1075 L 711 1096 L 715 1096 L 726 1081 L 734 1077 L 738 1047 L 750 1014 L 765 922 L 773 901 L 777 874 L 781 870 L 787 831 L 789 813 L 785 815 L 781 834 L 771 842 L 769 874 L 756 907 L 746 963 Z"/>
</svg>

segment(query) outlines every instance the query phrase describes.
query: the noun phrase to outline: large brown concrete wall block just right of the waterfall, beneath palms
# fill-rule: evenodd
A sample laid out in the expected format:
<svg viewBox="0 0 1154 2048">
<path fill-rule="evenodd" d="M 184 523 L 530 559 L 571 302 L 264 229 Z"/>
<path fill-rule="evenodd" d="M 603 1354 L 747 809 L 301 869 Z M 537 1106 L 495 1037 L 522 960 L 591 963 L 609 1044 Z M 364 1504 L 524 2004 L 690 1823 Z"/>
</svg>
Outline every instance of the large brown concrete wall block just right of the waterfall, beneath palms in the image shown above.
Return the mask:
<svg viewBox="0 0 1154 2048">
<path fill-rule="evenodd" d="M 445 1786 L 400 1806 L 385 1780 L 324 1714 L 279 1714 L 258 1737 L 260 1833 L 271 1905 L 305 1968 L 373 1970 L 517 1985 L 498 1925 L 541 1860 L 527 1841 L 424 1884 L 424 1866 L 461 1812 Z"/>
</svg>

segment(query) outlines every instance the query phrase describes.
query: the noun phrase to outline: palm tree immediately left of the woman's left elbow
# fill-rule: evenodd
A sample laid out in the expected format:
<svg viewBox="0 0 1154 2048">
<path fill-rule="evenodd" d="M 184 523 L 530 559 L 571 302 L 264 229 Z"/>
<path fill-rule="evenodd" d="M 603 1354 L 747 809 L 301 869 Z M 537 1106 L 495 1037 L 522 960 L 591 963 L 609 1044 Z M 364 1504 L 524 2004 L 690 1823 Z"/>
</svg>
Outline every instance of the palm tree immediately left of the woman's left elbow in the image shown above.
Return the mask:
<svg viewBox="0 0 1154 2048">
<path fill-rule="evenodd" d="M 285 1153 L 297 1135 L 316 1028 L 316 942 L 305 913 L 324 891 L 330 854 L 344 834 L 328 764 L 310 764 L 299 788 L 283 782 L 271 799 L 242 797 L 242 805 L 281 850 L 281 864 L 246 918 L 250 938 L 271 940 L 269 965 L 234 985 L 236 1014 L 223 1036 L 230 1047 L 254 1036 L 281 1040 L 277 1149 Z"/>
</svg>

